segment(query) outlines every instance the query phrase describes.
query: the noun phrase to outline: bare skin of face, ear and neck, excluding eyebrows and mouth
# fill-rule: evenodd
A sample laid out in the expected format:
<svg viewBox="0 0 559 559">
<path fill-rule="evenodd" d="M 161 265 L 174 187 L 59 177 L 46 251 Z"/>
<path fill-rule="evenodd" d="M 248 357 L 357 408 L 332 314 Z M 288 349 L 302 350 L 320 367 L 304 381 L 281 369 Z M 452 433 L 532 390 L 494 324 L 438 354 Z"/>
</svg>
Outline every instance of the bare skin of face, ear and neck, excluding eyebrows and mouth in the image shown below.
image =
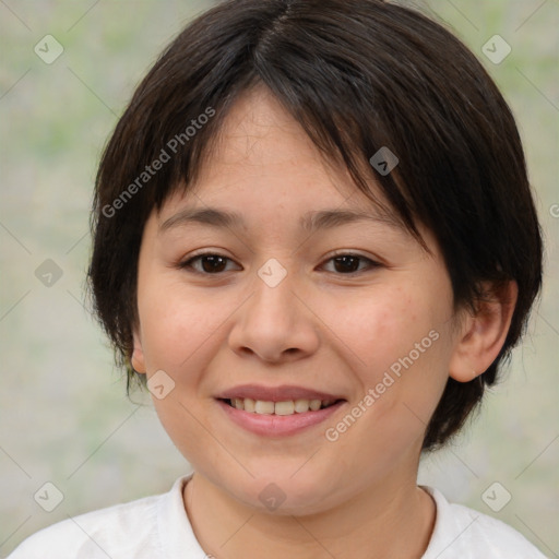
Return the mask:
<svg viewBox="0 0 559 559">
<path fill-rule="evenodd" d="M 206 206 L 240 213 L 245 226 L 162 229 L 182 210 Z M 385 219 L 299 228 L 304 214 L 325 209 L 378 213 L 257 88 L 227 116 L 197 182 L 145 225 L 132 365 L 175 382 L 154 405 L 194 469 L 185 508 L 217 558 L 421 557 L 436 519 L 416 484 L 426 425 L 449 374 L 464 382 L 485 371 L 510 324 L 513 283 L 503 294 L 512 304 L 454 313 L 430 231 L 420 227 L 432 255 Z M 229 260 L 213 274 L 200 259 L 180 267 L 201 249 Z M 336 265 L 334 251 L 362 257 L 357 272 Z M 258 275 L 272 258 L 287 272 L 273 288 Z M 326 440 L 325 429 L 430 331 L 438 340 L 346 432 Z M 324 424 L 266 438 L 233 424 L 214 399 L 245 383 L 302 385 L 347 402 Z M 286 496 L 275 511 L 259 499 L 272 483 Z"/>
</svg>

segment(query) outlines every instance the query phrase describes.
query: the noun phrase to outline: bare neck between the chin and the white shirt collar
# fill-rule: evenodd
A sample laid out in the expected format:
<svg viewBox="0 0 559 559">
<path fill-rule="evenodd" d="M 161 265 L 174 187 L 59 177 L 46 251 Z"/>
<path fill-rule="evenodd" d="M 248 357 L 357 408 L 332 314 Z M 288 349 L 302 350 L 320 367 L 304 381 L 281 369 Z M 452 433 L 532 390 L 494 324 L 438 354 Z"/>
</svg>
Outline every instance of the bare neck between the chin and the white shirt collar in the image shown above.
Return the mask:
<svg viewBox="0 0 559 559">
<path fill-rule="evenodd" d="M 183 498 L 200 545 L 216 559 L 420 559 L 436 516 L 431 497 L 415 479 L 401 478 L 334 509 L 298 516 L 255 511 L 198 473 Z"/>
</svg>

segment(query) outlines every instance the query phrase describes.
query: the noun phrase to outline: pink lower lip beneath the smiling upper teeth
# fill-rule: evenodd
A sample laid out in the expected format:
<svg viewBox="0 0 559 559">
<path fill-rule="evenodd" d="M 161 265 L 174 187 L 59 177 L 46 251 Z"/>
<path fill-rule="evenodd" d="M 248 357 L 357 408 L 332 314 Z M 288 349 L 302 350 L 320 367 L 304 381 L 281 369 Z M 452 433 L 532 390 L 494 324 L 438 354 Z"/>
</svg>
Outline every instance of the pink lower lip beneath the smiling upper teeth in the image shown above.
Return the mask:
<svg viewBox="0 0 559 559">
<path fill-rule="evenodd" d="M 237 409 L 226 404 L 223 400 L 217 400 L 217 403 L 231 421 L 247 431 L 262 437 L 285 437 L 296 435 L 325 421 L 345 404 L 345 401 L 337 402 L 323 409 L 318 409 L 317 412 L 305 412 L 302 414 L 293 415 L 252 414 L 243 409 Z"/>
</svg>

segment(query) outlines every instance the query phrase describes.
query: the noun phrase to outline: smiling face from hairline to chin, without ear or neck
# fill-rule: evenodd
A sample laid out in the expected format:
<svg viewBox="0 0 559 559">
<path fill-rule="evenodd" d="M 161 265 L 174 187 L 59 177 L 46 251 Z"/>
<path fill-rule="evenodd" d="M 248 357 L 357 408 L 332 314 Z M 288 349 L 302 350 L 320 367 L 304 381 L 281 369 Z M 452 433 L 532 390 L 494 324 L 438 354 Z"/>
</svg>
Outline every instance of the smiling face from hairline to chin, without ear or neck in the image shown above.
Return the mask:
<svg viewBox="0 0 559 559">
<path fill-rule="evenodd" d="M 237 221 L 193 216 L 210 209 Z M 150 216 L 139 261 L 132 362 L 198 474 L 258 509 L 285 495 L 284 513 L 415 485 L 457 343 L 420 231 L 432 254 L 273 97 L 237 102 L 197 183 Z"/>
</svg>

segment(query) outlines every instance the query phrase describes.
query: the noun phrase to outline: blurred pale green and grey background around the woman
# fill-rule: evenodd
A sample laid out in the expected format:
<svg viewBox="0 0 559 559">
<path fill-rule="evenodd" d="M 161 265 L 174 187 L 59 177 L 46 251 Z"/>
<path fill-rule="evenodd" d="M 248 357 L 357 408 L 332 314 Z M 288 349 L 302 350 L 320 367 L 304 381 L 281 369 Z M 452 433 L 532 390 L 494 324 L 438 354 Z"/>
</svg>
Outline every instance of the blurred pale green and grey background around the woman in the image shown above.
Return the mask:
<svg viewBox="0 0 559 559">
<path fill-rule="evenodd" d="M 0 0 L 0 557 L 68 515 L 168 491 L 190 472 L 150 400 L 127 399 L 84 281 L 102 148 L 162 49 L 211 3 Z M 476 52 L 511 105 L 547 241 L 525 343 L 419 483 L 559 557 L 559 2 L 414 3 Z"/>
</svg>

